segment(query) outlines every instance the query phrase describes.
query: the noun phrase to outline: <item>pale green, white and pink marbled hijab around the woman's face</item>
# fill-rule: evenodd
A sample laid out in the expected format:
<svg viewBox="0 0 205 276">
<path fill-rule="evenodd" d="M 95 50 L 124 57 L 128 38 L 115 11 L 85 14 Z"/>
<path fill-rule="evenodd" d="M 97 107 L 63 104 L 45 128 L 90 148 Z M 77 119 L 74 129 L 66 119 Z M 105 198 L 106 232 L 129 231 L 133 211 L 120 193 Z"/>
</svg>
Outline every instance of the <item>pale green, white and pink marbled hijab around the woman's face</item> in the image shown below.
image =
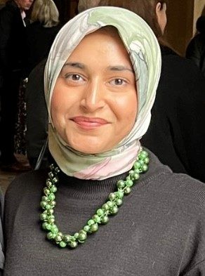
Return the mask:
<svg viewBox="0 0 205 276">
<path fill-rule="evenodd" d="M 51 118 L 51 98 L 62 66 L 81 40 L 100 27 L 117 28 L 135 72 L 138 91 L 138 114 L 133 129 L 112 150 L 88 155 L 77 152 L 58 135 Z M 91 8 L 67 22 L 58 33 L 48 55 L 44 73 L 48 107 L 48 147 L 60 169 L 68 176 L 102 180 L 131 169 L 140 150 L 140 138 L 150 124 L 151 108 L 161 72 L 161 53 L 149 25 L 124 8 Z"/>
</svg>

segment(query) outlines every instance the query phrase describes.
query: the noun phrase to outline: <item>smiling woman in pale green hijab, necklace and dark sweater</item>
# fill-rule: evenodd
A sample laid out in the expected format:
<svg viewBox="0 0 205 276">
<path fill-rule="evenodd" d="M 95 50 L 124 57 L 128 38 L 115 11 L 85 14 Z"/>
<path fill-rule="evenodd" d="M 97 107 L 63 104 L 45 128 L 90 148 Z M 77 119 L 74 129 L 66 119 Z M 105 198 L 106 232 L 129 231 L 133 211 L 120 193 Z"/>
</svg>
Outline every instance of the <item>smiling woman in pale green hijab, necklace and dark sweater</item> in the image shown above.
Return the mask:
<svg viewBox="0 0 205 276">
<path fill-rule="evenodd" d="M 204 275 L 205 186 L 140 147 L 160 65 L 130 11 L 62 27 L 45 70 L 54 164 L 8 188 L 4 275 Z"/>
</svg>

